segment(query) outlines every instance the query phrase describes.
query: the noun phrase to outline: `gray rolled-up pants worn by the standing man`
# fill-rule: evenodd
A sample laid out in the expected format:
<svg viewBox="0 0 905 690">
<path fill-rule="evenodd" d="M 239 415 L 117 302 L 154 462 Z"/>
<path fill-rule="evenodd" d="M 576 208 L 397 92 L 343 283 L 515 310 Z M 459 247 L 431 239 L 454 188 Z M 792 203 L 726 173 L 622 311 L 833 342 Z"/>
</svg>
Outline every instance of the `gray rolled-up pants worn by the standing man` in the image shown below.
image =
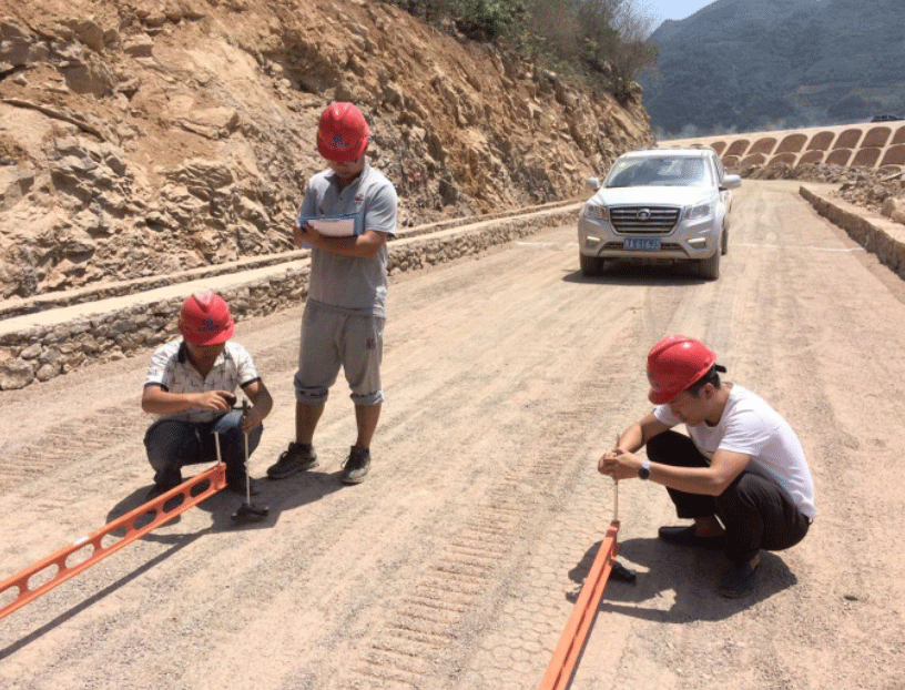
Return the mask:
<svg viewBox="0 0 905 690">
<path fill-rule="evenodd" d="M 325 404 L 342 366 L 356 405 L 383 403 L 385 321 L 383 316 L 349 314 L 307 302 L 302 315 L 295 399 L 312 406 Z"/>
</svg>

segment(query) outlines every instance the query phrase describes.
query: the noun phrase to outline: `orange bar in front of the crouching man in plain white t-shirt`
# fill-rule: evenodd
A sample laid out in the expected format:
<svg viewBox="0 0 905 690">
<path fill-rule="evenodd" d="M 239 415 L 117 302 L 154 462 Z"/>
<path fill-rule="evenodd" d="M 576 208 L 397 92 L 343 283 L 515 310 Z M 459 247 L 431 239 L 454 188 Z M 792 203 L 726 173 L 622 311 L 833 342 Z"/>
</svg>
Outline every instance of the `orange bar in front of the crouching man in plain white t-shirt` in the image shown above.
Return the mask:
<svg viewBox="0 0 905 690">
<path fill-rule="evenodd" d="M 619 534 L 619 520 L 610 522 L 607 536 L 600 542 L 591 571 L 588 574 L 581 593 L 578 595 L 572 615 L 566 623 L 566 629 L 559 638 L 553 657 L 547 667 L 547 673 L 540 682 L 539 690 L 565 690 L 572 679 L 578 658 L 584 647 L 588 630 L 591 628 L 600 597 L 610 577 L 612 565 L 616 562 L 616 536 Z"/>
</svg>

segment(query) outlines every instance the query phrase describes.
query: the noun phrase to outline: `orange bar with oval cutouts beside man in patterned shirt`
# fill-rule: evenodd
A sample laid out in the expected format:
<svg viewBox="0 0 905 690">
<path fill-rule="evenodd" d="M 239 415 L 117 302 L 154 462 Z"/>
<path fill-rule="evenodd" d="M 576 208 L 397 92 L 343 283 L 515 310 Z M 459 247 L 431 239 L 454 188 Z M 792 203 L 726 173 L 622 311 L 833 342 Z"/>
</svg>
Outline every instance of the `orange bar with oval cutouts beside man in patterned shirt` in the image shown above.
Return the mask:
<svg viewBox="0 0 905 690">
<path fill-rule="evenodd" d="M 203 490 L 199 491 L 197 494 L 192 490 L 204 481 L 210 481 L 210 485 Z M 19 595 L 12 600 L 11 603 L 0 608 L 0 619 L 6 618 L 13 611 L 22 608 L 28 602 L 33 601 L 41 595 L 50 591 L 58 585 L 65 582 L 69 578 L 79 575 L 82 570 L 87 570 L 102 558 L 105 558 L 111 554 L 115 554 L 126 544 L 130 544 L 139 537 L 146 535 L 149 531 L 160 527 L 164 522 L 169 522 L 180 513 L 185 513 L 189 508 L 196 506 L 205 498 L 213 496 L 221 489 L 225 488 L 225 486 L 226 466 L 223 463 L 218 463 L 211 469 L 203 471 L 200 475 L 195 475 L 191 479 L 180 484 L 177 487 L 170 489 L 165 494 L 161 494 L 152 500 L 149 500 L 146 504 L 139 506 L 121 518 L 104 525 L 101 529 L 91 532 L 87 537 L 80 537 L 74 541 L 74 544 L 63 547 L 55 554 L 48 556 L 33 566 L 26 568 L 17 575 L 13 575 L 11 578 L 3 580 L 3 582 L 0 582 L 0 601 L 8 598 L 4 596 L 4 592 L 11 590 L 13 587 L 19 588 Z M 172 509 L 166 510 L 164 505 L 180 495 L 182 496 L 182 501 L 180 501 L 180 504 L 174 506 Z M 135 521 L 140 517 L 146 516 L 151 511 L 156 513 L 154 518 L 148 524 L 142 525 L 142 527 L 136 528 Z M 111 535 L 118 529 L 121 529 L 122 527 L 125 527 L 125 535 L 122 538 L 108 546 L 102 544 L 104 537 Z M 114 536 L 113 538 L 116 537 Z M 91 551 L 88 558 L 81 560 L 74 566 L 69 566 L 67 564 L 70 556 L 80 551 L 85 551 L 87 549 L 90 549 Z M 31 589 L 29 586 L 31 578 L 39 574 L 43 574 L 44 577 L 47 577 L 51 574 L 51 568 L 55 568 L 53 576 L 43 585 Z M 39 578 L 39 580 L 41 578 Z"/>
</svg>

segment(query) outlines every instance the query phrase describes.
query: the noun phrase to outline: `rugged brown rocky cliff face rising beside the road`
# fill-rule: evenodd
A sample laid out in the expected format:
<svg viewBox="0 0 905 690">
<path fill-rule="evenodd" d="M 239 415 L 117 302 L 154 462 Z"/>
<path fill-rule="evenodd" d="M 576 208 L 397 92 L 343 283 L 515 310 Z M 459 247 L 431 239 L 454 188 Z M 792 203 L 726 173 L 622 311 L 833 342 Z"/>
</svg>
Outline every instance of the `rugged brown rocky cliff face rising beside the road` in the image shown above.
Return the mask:
<svg viewBox="0 0 905 690">
<path fill-rule="evenodd" d="M 356 102 L 400 224 L 580 193 L 620 105 L 364 0 L 0 1 L 0 294 L 292 248 L 317 118 Z"/>
</svg>

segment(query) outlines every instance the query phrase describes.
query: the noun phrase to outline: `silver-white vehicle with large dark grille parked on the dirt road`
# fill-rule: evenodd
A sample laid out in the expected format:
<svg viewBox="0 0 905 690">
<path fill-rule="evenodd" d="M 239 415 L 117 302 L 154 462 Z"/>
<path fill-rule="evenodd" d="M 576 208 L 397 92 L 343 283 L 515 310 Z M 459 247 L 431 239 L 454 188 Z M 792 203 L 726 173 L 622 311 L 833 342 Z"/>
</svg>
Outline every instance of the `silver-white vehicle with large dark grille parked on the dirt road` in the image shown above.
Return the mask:
<svg viewBox="0 0 905 690">
<path fill-rule="evenodd" d="M 726 175 L 709 146 L 645 149 L 619 156 L 603 186 L 578 219 L 581 272 L 598 275 L 608 260 L 648 263 L 695 262 L 701 277 L 720 277 L 726 253 L 730 190 L 739 175 Z"/>
</svg>

